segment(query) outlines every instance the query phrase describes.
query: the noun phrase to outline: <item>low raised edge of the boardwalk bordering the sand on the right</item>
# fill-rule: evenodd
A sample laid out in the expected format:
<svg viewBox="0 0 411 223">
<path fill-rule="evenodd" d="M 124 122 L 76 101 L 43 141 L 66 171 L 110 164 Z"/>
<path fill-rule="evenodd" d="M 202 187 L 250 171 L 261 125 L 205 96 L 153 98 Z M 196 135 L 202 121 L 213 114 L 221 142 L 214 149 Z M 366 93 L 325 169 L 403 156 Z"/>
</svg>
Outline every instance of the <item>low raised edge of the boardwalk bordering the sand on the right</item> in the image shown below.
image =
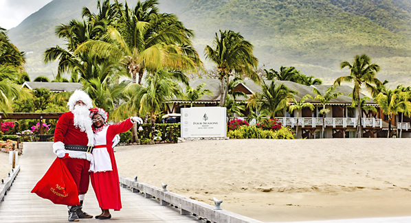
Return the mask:
<svg viewBox="0 0 411 223">
<path fill-rule="evenodd" d="M 170 191 L 163 191 L 159 187 L 135 181 L 131 178 L 120 176 L 120 185 L 129 188 L 133 192 L 140 192 L 145 198 L 157 198 L 160 205 L 172 205 L 180 209 L 181 215 L 195 215 L 201 220 L 210 222 L 230 222 L 230 223 L 260 223 L 260 221 L 245 217 L 237 213 L 226 210 L 214 210 L 214 206 L 193 200 L 185 196 Z"/>
</svg>

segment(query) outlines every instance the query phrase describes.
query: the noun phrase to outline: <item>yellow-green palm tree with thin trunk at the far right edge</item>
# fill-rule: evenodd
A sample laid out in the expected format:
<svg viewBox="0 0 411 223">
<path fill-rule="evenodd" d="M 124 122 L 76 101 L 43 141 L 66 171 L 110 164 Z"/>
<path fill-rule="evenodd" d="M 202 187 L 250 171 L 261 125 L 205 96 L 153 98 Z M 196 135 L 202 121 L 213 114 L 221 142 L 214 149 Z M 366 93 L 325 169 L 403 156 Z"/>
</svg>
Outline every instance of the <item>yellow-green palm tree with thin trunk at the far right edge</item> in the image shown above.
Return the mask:
<svg viewBox="0 0 411 223">
<path fill-rule="evenodd" d="M 411 110 L 411 102 L 408 100 L 408 94 L 401 92 L 399 89 L 382 89 L 375 97 L 375 101 L 383 111 L 384 115 L 388 116 L 388 138 L 391 138 L 391 121 L 392 115 L 397 115 L 404 111 Z"/>
</svg>

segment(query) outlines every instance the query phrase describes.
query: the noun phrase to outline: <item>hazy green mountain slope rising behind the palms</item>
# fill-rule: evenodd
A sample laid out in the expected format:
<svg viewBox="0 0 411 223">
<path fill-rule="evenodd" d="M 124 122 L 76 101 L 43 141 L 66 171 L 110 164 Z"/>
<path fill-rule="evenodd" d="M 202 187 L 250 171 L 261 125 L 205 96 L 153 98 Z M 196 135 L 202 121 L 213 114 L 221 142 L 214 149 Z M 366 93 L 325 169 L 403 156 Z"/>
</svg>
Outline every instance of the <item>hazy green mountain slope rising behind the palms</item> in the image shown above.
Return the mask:
<svg viewBox="0 0 411 223">
<path fill-rule="evenodd" d="M 47 47 L 61 44 L 54 27 L 80 19 L 83 6 L 96 0 L 54 0 L 10 30 L 13 43 L 27 54 L 31 77 L 52 75 L 42 64 Z M 135 5 L 135 1 L 128 1 Z M 200 54 L 218 30 L 241 32 L 254 46 L 263 69 L 294 66 L 306 75 L 333 82 L 348 70 L 355 54 L 368 54 L 381 66 L 381 80 L 411 84 L 410 0 L 159 0 L 164 12 L 177 14 L 195 30 Z M 212 67 L 207 64 L 206 67 Z"/>
</svg>

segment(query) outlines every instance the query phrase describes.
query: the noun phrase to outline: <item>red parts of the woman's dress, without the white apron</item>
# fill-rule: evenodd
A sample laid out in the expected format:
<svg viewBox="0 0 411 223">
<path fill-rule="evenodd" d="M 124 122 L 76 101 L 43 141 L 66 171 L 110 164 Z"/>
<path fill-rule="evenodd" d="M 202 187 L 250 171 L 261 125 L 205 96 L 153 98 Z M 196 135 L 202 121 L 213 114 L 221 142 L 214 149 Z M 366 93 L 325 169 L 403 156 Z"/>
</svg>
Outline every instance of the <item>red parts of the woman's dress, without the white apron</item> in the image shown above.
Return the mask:
<svg viewBox="0 0 411 223">
<path fill-rule="evenodd" d="M 131 127 L 133 127 L 133 124 L 130 119 L 126 119 L 119 124 L 113 124 L 107 127 L 106 148 L 110 155 L 113 171 L 90 173 L 91 185 L 93 185 L 98 204 L 102 209 L 114 209 L 115 211 L 119 211 L 122 208 L 117 164 L 115 163 L 114 152 L 111 147 L 115 135 L 120 134 L 121 132 L 126 132 L 127 130 L 130 130 Z"/>
</svg>

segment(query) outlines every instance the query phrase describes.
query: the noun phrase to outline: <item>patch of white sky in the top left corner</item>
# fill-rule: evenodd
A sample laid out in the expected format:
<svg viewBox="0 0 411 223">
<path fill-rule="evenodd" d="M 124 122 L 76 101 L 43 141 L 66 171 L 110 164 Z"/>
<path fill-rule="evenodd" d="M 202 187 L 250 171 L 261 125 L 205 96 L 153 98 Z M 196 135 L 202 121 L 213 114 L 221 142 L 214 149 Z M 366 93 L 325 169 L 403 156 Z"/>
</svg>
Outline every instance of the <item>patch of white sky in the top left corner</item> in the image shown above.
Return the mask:
<svg viewBox="0 0 411 223">
<path fill-rule="evenodd" d="M 0 0 L 0 27 L 10 30 L 52 0 Z"/>
</svg>

